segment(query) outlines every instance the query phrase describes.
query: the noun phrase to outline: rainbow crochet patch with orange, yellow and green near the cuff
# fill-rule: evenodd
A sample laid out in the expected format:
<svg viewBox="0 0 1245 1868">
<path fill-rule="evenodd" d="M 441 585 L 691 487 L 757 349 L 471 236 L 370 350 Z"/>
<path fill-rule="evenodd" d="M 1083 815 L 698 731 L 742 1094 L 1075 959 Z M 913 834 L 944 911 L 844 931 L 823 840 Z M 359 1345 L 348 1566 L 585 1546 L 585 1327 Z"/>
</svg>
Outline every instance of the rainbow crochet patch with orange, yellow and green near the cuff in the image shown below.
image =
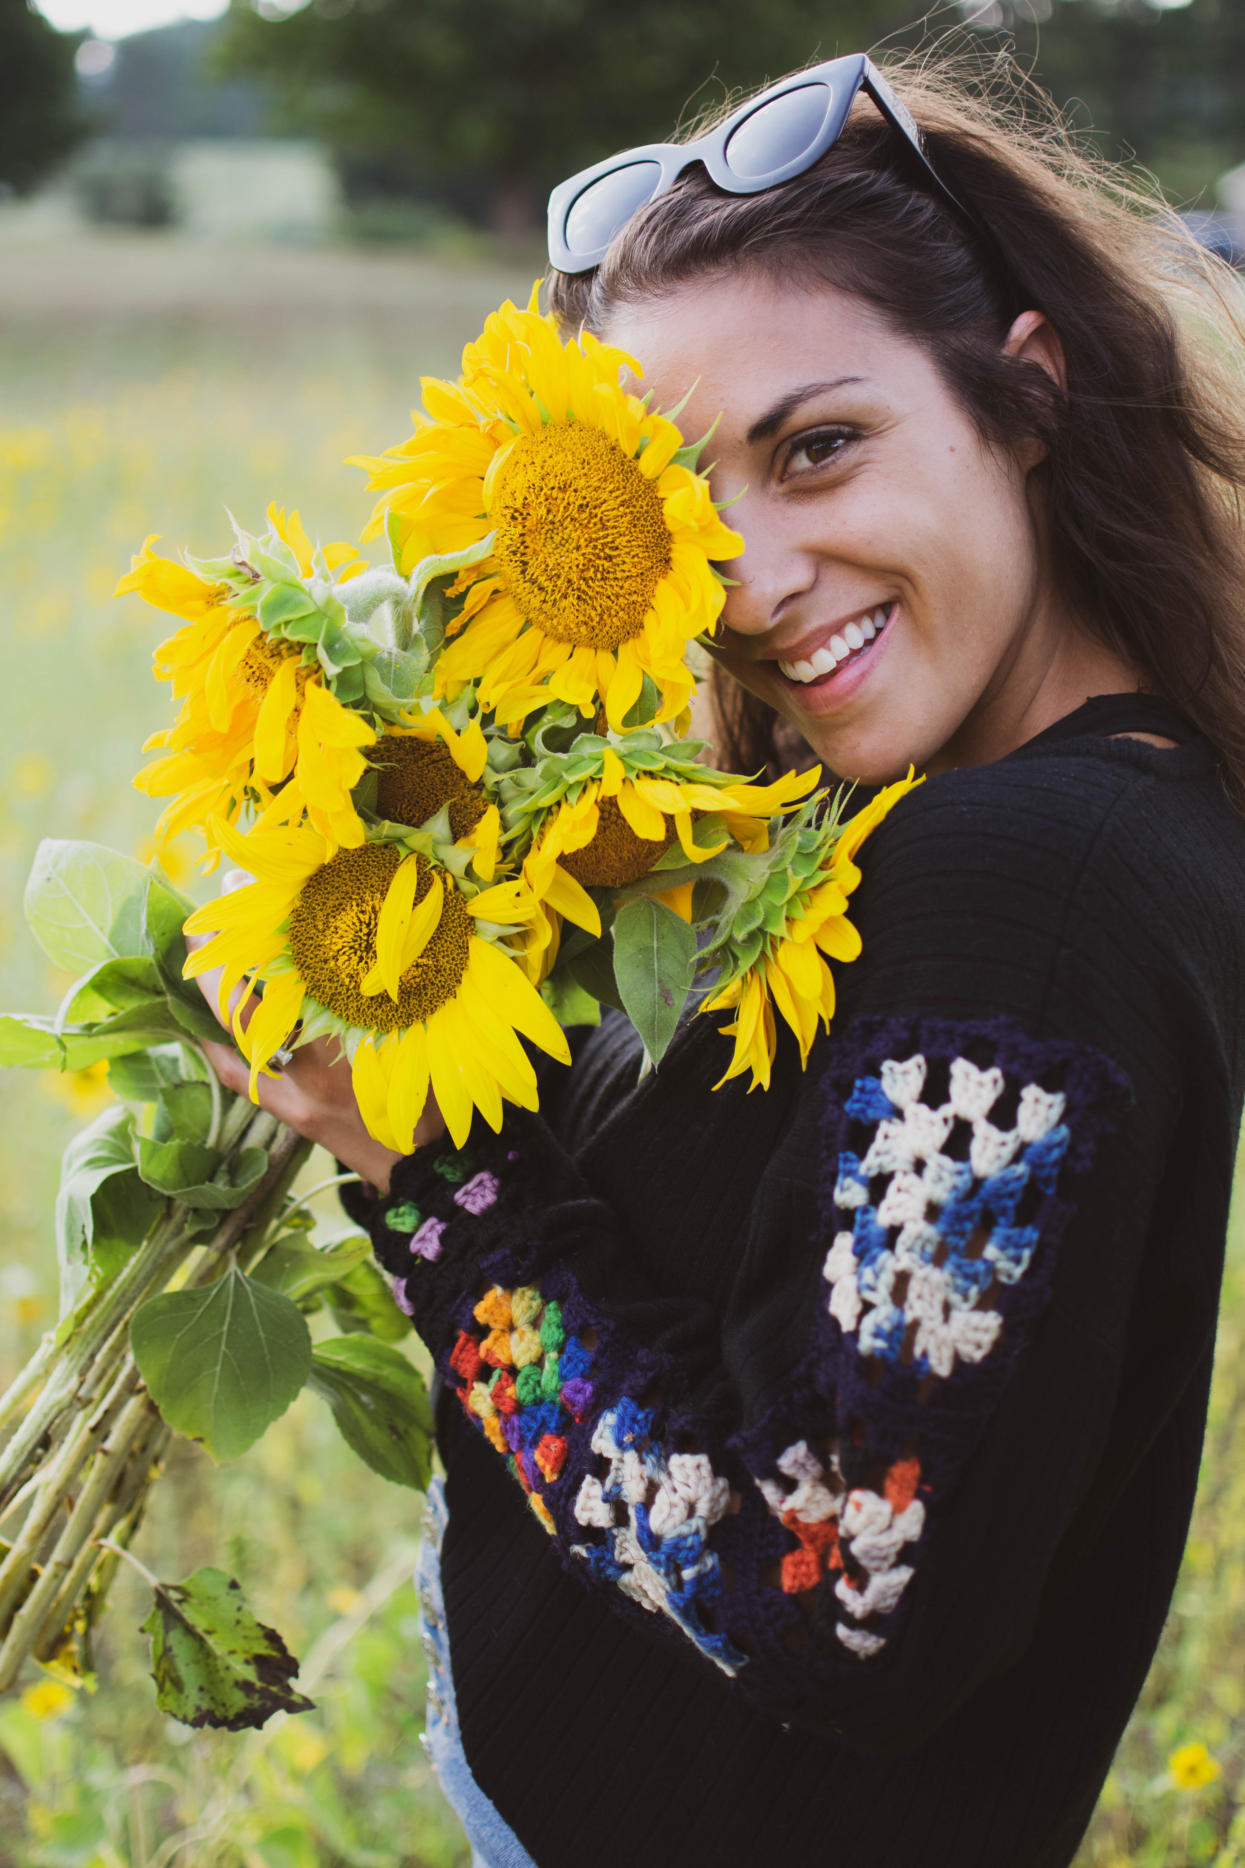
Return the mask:
<svg viewBox="0 0 1245 1868">
<path fill-rule="evenodd" d="M 476 1175 L 457 1201 L 491 1175 Z M 497 1182 L 493 1181 L 493 1196 Z M 469 1207 L 467 1210 L 476 1210 Z M 592 1408 L 592 1354 L 562 1324 L 562 1306 L 536 1285 L 493 1285 L 474 1308 L 478 1332 L 459 1330 L 450 1379 L 467 1414 L 510 1463 L 532 1511 L 553 1535 L 541 1493 L 556 1485 L 567 1457 L 566 1429 Z"/>
</svg>

